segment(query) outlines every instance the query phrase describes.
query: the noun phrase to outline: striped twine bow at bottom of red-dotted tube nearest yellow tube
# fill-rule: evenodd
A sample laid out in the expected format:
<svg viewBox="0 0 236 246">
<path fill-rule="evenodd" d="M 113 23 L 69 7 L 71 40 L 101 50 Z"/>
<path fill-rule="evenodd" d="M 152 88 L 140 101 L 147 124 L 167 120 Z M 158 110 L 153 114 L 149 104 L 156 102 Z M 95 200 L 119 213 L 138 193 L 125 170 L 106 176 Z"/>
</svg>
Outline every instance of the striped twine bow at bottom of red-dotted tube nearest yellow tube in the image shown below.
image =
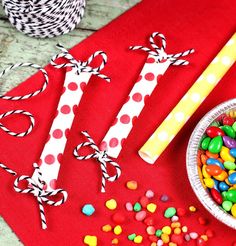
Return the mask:
<svg viewBox="0 0 236 246">
<path fill-rule="evenodd" d="M 91 158 L 97 159 L 97 161 L 100 163 L 100 167 L 102 170 L 102 187 L 101 187 L 101 192 L 105 192 L 105 185 L 106 185 L 106 180 L 110 181 L 110 182 L 114 182 L 115 180 L 117 180 L 120 175 L 121 175 L 121 168 L 119 166 L 119 164 L 117 164 L 116 162 L 112 161 L 106 151 L 101 151 L 98 146 L 94 143 L 93 139 L 89 136 L 89 134 L 86 131 L 82 131 L 81 132 L 87 139 L 88 142 L 83 142 L 81 144 L 79 144 L 75 149 L 74 149 L 74 156 L 76 157 L 76 159 L 78 160 L 88 160 Z M 85 146 L 90 146 L 93 150 L 94 153 L 89 154 L 89 155 L 79 155 L 78 151 L 79 149 L 81 149 L 82 147 Z M 113 176 L 110 176 L 107 173 L 107 164 L 112 165 L 115 169 L 116 169 L 116 174 Z"/>
</svg>

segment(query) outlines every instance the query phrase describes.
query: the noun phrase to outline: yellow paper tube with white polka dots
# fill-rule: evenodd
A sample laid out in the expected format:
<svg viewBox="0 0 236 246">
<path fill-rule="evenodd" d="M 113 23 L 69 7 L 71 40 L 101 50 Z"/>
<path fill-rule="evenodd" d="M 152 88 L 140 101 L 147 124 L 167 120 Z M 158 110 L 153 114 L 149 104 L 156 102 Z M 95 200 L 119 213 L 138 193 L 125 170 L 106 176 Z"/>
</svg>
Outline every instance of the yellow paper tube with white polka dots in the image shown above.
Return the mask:
<svg viewBox="0 0 236 246">
<path fill-rule="evenodd" d="M 236 33 L 139 150 L 153 164 L 236 61 Z M 174 127 L 173 127 L 174 126 Z"/>
</svg>

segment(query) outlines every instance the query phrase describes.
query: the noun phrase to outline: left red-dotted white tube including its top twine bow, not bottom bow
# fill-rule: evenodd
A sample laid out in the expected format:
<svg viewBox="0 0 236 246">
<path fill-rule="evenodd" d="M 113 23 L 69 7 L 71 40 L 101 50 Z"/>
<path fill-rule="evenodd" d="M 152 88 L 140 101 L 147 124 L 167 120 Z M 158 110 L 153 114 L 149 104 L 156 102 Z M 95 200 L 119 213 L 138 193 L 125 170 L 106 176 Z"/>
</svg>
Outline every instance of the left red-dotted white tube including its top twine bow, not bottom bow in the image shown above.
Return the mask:
<svg viewBox="0 0 236 246">
<path fill-rule="evenodd" d="M 56 179 L 58 177 L 67 137 L 74 119 L 74 112 L 79 105 L 83 91 L 91 75 L 96 74 L 108 80 L 105 75 L 99 74 L 101 67 L 103 68 L 104 64 L 106 64 L 106 56 L 104 53 L 102 57 L 105 59 L 103 59 L 101 65 L 98 68 L 91 68 L 89 67 L 89 63 L 101 52 L 95 52 L 88 59 L 89 62 L 80 62 L 76 61 L 64 48 L 61 49 L 63 53 L 55 56 L 51 63 L 57 68 L 67 67 L 63 93 L 49 132 L 48 142 L 45 144 L 38 162 L 42 173 L 42 180 L 46 184 L 46 190 L 54 190 L 56 188 Z M 54 60 L 58 57 L 67 58 L 70 62 L 56 64 Z M 37 172 L 34 172 L 33 179 L 37 180 Z"/>
</svg>

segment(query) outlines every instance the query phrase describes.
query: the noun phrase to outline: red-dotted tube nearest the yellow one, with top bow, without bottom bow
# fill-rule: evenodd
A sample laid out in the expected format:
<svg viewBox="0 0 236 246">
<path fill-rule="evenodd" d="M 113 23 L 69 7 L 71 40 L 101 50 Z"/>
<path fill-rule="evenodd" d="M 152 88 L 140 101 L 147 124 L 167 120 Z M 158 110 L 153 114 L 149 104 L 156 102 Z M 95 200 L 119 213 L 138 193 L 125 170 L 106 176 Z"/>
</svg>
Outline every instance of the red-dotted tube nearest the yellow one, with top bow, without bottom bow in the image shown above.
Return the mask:
<svg viewBox="0 0 236 246">
<path fill-rule="evenodd" d="M 156 45 L 154 41 L 155 37 L 161 39 L 161 47 Z M 151 35 L 150 44 L 153 50 L 143 46 L 130 48 L 132 50 L 143 50 L 149 55 L 137 82 L 100 145 L 100 148 L 106 150 L 107 154 L 111 157 L 118 157 L 123 142 L 128 137 L 135 120 L 145 106 L 146 99 L 152 94 L 159 79 L 168 67 L 170 65 L 187 65 L 187 61 L 179 58 L 194 52 L 193 49 L 190 49 L 178 54 L 167 55 L 165 52 L 165 37 L 158 32 Z"/>
</svg>

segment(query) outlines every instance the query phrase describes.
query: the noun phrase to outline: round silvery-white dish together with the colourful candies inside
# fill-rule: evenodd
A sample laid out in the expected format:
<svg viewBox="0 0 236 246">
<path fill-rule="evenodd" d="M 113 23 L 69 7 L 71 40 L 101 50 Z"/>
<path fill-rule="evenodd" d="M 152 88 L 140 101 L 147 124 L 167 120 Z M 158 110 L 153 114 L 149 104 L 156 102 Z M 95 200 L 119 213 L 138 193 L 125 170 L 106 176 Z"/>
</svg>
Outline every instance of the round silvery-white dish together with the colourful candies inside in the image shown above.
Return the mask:
<svg viewBox="0 0 236 246">
<path fill-rule="evenodd" d="M 216 106 L 197 124 L 186 164 L 190 184 L 203 206 L 236 229 L 236 99 Z"/>
</svg>

